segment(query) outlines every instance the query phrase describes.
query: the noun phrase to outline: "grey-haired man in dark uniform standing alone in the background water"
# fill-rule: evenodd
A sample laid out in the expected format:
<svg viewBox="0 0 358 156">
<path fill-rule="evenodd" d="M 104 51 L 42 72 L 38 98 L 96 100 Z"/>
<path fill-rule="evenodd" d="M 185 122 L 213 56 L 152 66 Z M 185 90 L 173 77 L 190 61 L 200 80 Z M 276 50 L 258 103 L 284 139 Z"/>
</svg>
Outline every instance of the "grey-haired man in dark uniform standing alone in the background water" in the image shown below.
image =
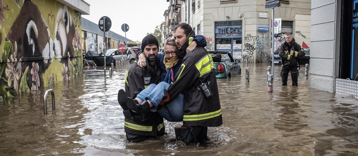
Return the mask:
<svg viewBox="0 0 358 156">
<path fill-rule="evenodd" d="M 281 78 L 282 85 L 287 85 L 287 79 L 289 72 L 291 72 L 292 86 L 297 86 L 298 79 L 298 67 L 299 56 L 305 56 L 306 52 L 302 46 L 299 45 L 291 33 L 286 33 L 286 42 L 282 43 L 279 49 L 279 55 L 281 57 L 282 70 Z"/>
</svg>

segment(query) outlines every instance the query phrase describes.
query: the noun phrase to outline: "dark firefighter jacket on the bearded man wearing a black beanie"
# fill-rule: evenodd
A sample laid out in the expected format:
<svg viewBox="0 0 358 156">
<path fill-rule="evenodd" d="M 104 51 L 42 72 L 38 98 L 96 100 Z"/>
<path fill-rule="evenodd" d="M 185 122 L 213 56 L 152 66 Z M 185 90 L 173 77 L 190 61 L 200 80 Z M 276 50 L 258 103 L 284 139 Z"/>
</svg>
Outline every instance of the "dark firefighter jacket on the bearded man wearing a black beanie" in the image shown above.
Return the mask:
<svg viewBox="0 0 358 156">
<path fill-rule="evenodd" d="M 147 62 L 148 64 L 148 62 Z M 132 99 L 145 89 L 149 84 L 158 84 L 160 80 L 159 62 L 156 61 L 154 67 L 147 66 L 141 68 L 134 63 L 127 72 L 125 80 L 125 89 L 127 97 Z M 130 134 L 145 136 L 160 136 L 165 132 L 164 120 L 158 112 L 147 112 L 144 114 L 147 120 L 136 122 L 133 118 L 124 119 L 124 130 Z"/>
</svg>

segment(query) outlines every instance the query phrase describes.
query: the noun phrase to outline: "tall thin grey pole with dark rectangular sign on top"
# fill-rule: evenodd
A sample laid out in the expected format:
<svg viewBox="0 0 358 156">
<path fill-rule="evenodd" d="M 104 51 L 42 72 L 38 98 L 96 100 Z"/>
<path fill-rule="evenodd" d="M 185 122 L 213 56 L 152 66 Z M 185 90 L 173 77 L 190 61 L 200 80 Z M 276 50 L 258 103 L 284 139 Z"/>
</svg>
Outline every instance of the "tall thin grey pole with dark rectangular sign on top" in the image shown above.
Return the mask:
<svg viewBox="0 0 358 156">
<path fill-rule="evenodd" d="M 265 8 L 269 8 L 269 9 L 272 9 L 272 17 L 271 17 L 271 20 L 272 20 L 272 29 L 271 29 L 271 31 L 272 31 L 272 53 L 271 53 L 271 55 L 272 55 L 272 57 L 271 57 L 271 59 L 272 59 L 272 90 L 273 90 L 273 88 L 274 88 L 274 56 L 275 56 L 275 54 L 274 54 L 274 52 L 275 52 L 275 39 L 274 39 L 274 36 L 275 36 L 275 33 L 274 33 L 274 29 L 275 29 L 275 24 L 274 24 L 274 20 L 275 20 L 275 11 L 274 11 L 274 8 L 275 7 L 279 7 L 279 6 L 281 6 L 281 4 L 280 4 L 280 2 L 279 2 L 279 0 L 266 0 L 266 6 L 265 6 Z"/>
</svg>

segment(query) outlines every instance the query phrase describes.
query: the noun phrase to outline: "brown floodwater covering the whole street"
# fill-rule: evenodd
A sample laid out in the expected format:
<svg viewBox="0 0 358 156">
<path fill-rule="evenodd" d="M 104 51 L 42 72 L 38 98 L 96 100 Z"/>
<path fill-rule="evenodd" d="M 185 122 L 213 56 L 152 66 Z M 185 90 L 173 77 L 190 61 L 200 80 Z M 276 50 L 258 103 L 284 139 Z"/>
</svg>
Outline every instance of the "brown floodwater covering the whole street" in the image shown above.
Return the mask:
<svg viewBox="0 0 358 156">
<path fill-rule="evenodd" d="M 310 89 L 301 66 L 298 87 L 281 86 L 275 66 L 274 92 L 267 92 L 267 66 L 248 64 L 250 83 L 243 73 L 218 80 L 223 125 L 209 128 L 205 145 L 175 141 L 168 135 L 129 143 L 117 92 L 125 73 L 104 79 L 103 72 L 55 83 L 0 102 L 0 155 L 358 155 L 358 100 Z M 101 69 L 101 67 L 97 67 Z M 102 67 L 103 69 L 103 67 Z M 55 92 L 56 109 L 43 115 L 45 90 Z"/>
</svg>

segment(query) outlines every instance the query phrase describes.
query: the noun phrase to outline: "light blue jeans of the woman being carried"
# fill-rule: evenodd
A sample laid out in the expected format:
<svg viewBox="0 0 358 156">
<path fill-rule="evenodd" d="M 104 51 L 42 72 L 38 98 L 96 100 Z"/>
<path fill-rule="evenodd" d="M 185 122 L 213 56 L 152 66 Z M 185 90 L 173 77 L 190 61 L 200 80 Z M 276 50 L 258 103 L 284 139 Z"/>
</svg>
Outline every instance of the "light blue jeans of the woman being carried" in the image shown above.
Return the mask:
<svg viewBox="0 0 358 156">
<path fill-rule="evenodd" d="M 137 95 L 137 98 L 141 99 L 142 101 L 149 99 L 149 101 L 154 104 L 154 106 L 150 108 L 150 111 L 155 111 L 164 96 L 164 89 L 168 88 L 169 84 L 166 82 L 161 82 L 158 85 L 150 84 L 147 88 L 142 90 Z M 158 110 L 158 113 L 165 120 L 168 120 L 170 122 L 183 121 L 183 103 L 184 95 L 180 94 L 177 98 L 173 100 L 173 102 L 163 106 L 163 108 Z"/>
</svg>

